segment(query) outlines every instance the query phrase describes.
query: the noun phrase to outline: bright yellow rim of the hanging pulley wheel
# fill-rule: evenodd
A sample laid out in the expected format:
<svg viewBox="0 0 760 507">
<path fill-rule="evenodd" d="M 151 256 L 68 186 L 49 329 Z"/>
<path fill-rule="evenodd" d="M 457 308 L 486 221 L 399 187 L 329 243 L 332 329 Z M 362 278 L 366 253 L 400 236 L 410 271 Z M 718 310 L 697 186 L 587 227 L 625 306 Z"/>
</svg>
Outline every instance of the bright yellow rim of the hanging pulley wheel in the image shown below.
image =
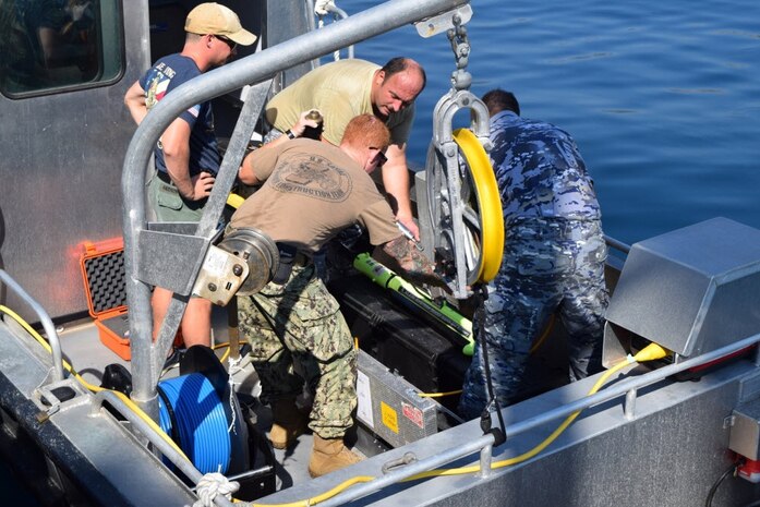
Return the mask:
<svg viewBox="0 0 760 507">
<path fill-rule="evenodd" d="M 478 198 L 481 222 L 481 265 L 478 280 L 488 282 L 498 274 L 504 253 L 502 198 L 488 155 L 475 134 L 467 129 L 458 129 L 454 131 L 453 137 L 470 169 Z"/>
</svg>

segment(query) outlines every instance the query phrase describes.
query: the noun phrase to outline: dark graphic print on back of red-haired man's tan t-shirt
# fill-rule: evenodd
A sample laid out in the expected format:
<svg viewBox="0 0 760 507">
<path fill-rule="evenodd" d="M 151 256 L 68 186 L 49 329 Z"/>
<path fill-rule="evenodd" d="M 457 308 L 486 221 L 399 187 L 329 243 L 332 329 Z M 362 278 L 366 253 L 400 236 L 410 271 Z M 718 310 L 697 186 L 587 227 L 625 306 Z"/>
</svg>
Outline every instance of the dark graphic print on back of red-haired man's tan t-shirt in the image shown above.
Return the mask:
<svg viewBox="0 0 760 507">
<path fill-rule="evenodd" d="M 346 201 L 352 188 L 348 172 L 312 154 L 292 155 L 280 161 L 269 183 L 278 192 L 299 193 L 333 203 Z"/>
</svg>

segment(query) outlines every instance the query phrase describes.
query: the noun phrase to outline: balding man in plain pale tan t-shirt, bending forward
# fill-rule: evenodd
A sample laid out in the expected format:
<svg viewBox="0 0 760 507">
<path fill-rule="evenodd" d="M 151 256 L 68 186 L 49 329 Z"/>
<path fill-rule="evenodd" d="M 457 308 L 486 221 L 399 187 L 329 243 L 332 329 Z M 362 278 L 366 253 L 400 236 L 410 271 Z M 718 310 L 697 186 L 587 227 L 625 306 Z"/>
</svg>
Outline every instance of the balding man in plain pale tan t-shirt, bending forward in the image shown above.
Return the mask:
<svg viewBox="0 0 760 507">
<path fill-rule="evenodd" d="M 324 117 L 322 140 L 339 145 L 348 122 L 358 114 L 377 117 L 390 130 L 383 186 L 396 219 L 419 239 L 409 197 L 406 148 L 414 120 L 414 99 L 425 87 L 425 72 L 414 60 L 394 58 L 383 68 L 364 60 L 341 60 L 321 65 L 277 94 L 266 106 L 266 118 L 277 131 L 293 138 L 303 111 Z M 287 140 L 288 137 L 282 136 Z"/>
</svg>

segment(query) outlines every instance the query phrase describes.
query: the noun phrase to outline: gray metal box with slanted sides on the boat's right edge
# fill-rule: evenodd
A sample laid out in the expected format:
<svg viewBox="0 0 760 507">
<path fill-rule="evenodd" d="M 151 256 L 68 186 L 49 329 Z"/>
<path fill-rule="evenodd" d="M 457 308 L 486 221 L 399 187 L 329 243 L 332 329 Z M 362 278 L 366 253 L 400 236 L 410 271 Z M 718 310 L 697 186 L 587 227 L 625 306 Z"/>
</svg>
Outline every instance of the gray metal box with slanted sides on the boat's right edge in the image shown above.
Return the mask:
<svg viewBox="0 0 760 507">
<path fill-rule="evenodd" d="M 760 230 L 714 218 L 634 244 L 606 317 L 605 366 L 637 342 L 678 361 L 760 333 Z"/>
</svg>

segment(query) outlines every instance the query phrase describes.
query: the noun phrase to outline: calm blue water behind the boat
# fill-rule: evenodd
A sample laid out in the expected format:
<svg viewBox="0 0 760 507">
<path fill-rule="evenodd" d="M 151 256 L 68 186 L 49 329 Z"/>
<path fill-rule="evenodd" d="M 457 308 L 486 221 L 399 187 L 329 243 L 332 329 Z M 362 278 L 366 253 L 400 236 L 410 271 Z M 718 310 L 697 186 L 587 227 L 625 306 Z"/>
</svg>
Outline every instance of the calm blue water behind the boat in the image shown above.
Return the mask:
<svg viewBox="0 0 760 507">
<path fill-rule="evenodd" d="M 473 0 L 471 90 L 510 89 L 524 117 L 569 131 L 622 241 L 715 216 L 760 228 L 760 2 L 606 3 Z M 411 26 L 357 47 L 397 55 L 427 71 L 409 148 L 422 164 L 454 57 L 445 34 Z"/>
</svg>

